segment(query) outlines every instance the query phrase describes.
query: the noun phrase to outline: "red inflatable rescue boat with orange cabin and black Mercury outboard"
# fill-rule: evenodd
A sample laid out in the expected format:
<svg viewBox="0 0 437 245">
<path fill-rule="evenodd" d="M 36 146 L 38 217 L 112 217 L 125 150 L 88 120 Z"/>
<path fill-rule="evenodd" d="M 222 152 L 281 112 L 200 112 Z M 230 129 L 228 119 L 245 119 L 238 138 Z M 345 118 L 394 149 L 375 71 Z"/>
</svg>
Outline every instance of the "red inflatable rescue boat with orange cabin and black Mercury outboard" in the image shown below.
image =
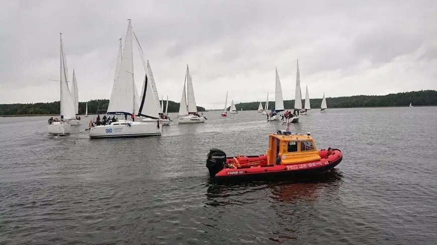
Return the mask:
<svg viewBox="0 0 437 245">
<path fill-rule="evenodd" d="M 213 148 L 209 150 L 206 168 L 215 179 L 311 175 L 333 169 L 342 159 L 339 149 L 317 150 L 309 132 L 293 135 L 279 130 L 269 134 L 265 155 L 227 157 L 222 150 Z"/>
</svg>

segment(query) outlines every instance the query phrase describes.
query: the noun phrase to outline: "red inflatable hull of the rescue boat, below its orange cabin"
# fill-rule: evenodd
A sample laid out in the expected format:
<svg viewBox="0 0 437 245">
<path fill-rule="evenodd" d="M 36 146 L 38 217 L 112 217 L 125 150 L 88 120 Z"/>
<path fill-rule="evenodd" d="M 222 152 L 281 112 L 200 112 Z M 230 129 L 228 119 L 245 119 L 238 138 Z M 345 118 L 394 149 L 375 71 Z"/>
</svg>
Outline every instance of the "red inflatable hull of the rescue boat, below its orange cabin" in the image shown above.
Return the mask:
<svg viewBox="0 0 437 245">
<path fill-rule="evenodd" d="M 271 178 L 271 177 L 304 177 L 322 174 L 335 168 L 343 160 L 342 152 L 338 149 L 320 150 L 320 160 L 297 163 L 297 164 L 277 164 L 267 165 L 267 157 L 260 156 L 240 156 L 241 165 L 250 162 L 260 162 L 259 166 L 224 168 L 214 175 L 217 180 L 238 180 L 248 178 Z M 228 157 L 226 163 L 233 162 L 234 157 Z M 210 170 L 211 173 L 211 170 Z"/>
</svg>

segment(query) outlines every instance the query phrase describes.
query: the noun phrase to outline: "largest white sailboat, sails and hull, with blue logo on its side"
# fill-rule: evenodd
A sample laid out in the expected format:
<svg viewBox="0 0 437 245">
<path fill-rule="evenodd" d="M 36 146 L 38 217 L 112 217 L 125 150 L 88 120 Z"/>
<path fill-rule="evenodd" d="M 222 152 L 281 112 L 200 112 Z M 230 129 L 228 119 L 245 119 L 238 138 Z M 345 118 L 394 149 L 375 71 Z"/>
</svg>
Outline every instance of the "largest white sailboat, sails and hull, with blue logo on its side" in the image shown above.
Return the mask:
<svg viewBox="0 0 437 245">
<path fill-rule="evenodd" d="M 153 136 L 161 135 L 162 132 L 158 119 L 159 107 L 153 94 L 152 82 L 144 62 L 141 46 L 138 49 L 145 67 L 145 77 L 141 96 L 138 98 L 134 79 L 133 30 L 131 19 L 128 21 L 125 49 L 122 49 L 120 40 L 113 91 L 106 113 L 131 115 L 133 119 L 135 119 L 135 115 L 138 115 L 146 117 L 147 120 L 117 120 L 108 125 L 92 125 L 89 129 L 90 138 Z M 139 45 L 138 40 L 137 44 Z"/>
</svg>

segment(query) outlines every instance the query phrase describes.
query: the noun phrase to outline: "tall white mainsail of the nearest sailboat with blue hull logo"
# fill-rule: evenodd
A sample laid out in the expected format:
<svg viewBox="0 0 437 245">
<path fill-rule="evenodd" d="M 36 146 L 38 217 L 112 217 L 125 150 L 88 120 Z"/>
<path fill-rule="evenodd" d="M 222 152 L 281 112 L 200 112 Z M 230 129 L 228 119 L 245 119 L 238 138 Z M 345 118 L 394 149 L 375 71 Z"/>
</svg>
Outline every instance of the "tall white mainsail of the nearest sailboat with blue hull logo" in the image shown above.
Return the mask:
<svg viewBox="0 0 437 245">
<path fill-rule="evenodd" d="M 111 94 L 110 106 L 108 113 L 137 113 L 138 94 L 134 80 L 134 57 L 132 43 L 132 23 L 129 20 L 128 30 L 126 32 L 125 48 L 120 61 L 120 68 L 117 76 L 115 91 Z M 114 96 L 113 96 L 114 95 Z"/>
</svg>

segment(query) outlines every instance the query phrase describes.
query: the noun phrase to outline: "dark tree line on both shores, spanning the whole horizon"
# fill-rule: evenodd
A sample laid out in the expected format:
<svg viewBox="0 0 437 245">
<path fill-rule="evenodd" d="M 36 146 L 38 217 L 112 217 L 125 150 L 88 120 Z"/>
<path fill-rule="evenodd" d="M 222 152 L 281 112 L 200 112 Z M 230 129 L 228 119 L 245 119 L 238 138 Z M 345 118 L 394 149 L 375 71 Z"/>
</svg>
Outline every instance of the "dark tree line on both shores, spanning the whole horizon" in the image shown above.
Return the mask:
<svg viewBox="0 0 437 245">
<path fill-rule="evenodd" d="M 342 97 L 326 97 L 328 108 L 347 107 L 376 107 L 376 106 L 408 106 L 410 102 L 414 106 L 437 105 L 436 90 L 421 90 L 411 92 L 391 93 L 387 95 L 354 95 Z M 260 101 L 244 102 L 236 104 L 237 110 L 257 110 Z M 105 113 L 108 107 L 108 99 L 92 99 L 88 101 L 88 114 Z M 164 100 L 165 109 L 166 100 Z M 265 101 L 262 102 L 265 106 Z M 302 105 L 304 100 L 302 100 Z M 321 98 L 310 99 L 311 108 L 319 108 Z M 85 114 L 86 102 L 79 102 L 79 114 Z M 274 101 L 269 102 L 269 108 L 275 106 Z M 284 100 L 286 109 L 294 108 L 294 99 Z M 229 107 L 230 108 L 230 107 Z M 229 109 L 228 108 L 228 109 Z M 197 106 L 198 111 L 205 111 L 204 107 Z M 58 114 L 60 111 L 59 101 L 48 103 L 16 103 L 0 104 L 0 115 L 24 115 L 24 114 Z M 178 112 L 179 103 L 169 100 L 168 112 Z"/>
</svg>

